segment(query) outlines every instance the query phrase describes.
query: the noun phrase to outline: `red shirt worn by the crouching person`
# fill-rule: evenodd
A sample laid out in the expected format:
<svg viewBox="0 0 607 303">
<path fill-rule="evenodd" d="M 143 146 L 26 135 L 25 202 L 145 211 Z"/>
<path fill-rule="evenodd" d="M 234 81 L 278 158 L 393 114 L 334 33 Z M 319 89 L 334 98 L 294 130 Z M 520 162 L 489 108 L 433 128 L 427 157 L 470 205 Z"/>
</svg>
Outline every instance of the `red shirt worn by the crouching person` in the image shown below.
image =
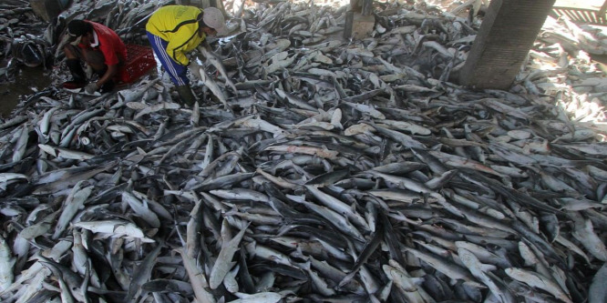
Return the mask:
<svg viewBox="0 0 607 303">
<path fill-rule="evenodd" d="M 83 45 L 78 44 L 81 48 L 93 48 L 98 49 L 103 53 L 103 56 L 106 58 L 105 64 L 108 66 L 117 65 L 118 61 L 121 59 L 122 62 L 127 62 L 127 46 L 124 45 L 124 42 L 120 39 L 118 34 L 111 30 L 106 25 L 98 24 L 97 22 L 92 22 L 85 20 L 89 24 L 93 25 L 93 30 L 97 34 L 98 44 L 97 45 Z"/>
</svg>

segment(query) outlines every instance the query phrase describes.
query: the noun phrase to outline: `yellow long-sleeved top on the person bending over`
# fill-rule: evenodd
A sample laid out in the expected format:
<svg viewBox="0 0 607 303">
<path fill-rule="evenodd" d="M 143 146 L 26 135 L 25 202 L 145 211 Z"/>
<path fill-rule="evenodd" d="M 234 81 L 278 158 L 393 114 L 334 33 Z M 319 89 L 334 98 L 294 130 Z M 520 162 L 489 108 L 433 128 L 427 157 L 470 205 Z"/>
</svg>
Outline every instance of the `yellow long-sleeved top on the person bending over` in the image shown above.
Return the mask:
<svg viewBox="0 0 607 303">
<path fill-rule="evenodd" d="M 167 5 L 160 7 L 149 17 L 146 30 L 167 41 L 167 54 L 182 66 L 190 61 L 185 55 L 206 38 L 198 35 L 197 18 L 202 17 L 202 9 L 195 6 Z"/>
</svg>

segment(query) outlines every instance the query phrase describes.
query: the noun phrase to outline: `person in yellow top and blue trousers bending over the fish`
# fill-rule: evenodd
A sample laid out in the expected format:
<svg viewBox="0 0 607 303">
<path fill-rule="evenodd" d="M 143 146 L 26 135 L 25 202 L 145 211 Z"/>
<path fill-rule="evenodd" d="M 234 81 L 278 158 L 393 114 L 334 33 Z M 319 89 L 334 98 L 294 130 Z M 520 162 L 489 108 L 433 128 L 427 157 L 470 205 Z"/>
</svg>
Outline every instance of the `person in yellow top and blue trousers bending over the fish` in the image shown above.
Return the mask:
<svg viewBox="0 0 607 303">
<path fill-rule="evenodd" d="M 224 29 L 223 14 L 215 7 L 203 10 L 195 6 L 167 5 L 149 17 L 146 25 L 149 43 L 175 84 L 181 102 L 188 106 L 196 102 L 196 97 L 190 89 L 187 76 L 190 60 L 186 54 L 207 35 L 216 35 Z"/>
</svg>

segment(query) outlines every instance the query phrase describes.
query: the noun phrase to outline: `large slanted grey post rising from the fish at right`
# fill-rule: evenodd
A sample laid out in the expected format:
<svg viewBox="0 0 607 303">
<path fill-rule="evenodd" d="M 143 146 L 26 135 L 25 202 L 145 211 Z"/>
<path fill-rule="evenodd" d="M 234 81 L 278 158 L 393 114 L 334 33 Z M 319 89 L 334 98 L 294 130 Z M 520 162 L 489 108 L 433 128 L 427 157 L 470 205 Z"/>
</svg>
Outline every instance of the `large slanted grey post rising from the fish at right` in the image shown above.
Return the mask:
<svg viewBox="0 0 607 303">
<path fill-rule="evenodd" d="M 555 0 L 492 0 L 459 71 L 459 83 L 508 89 Z"/>
</svg>

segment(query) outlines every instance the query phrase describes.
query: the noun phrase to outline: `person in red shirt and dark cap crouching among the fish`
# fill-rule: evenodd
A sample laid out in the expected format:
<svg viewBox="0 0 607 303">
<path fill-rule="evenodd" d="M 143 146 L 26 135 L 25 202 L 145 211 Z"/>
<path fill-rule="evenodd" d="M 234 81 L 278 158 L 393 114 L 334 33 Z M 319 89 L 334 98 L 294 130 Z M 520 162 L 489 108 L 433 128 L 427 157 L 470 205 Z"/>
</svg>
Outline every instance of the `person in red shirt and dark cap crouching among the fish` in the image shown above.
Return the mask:
<svg viewBox="0 0 607 303">
<path fill-rule="evenodd" d="M 72 43 L 63 50 L 73 79 L 63 86 L 70 89 L 85 87 L 89 94 L 99 89 L 102 93 L 113 90 L 116 85 L 114 79 L 118 78 L 127 60 L 127 47 L 116 32 L 96 22 L 72 20 L 67 24 L 67 34 Z M 97 82 L 88 83 L 81 62 L 99 76 Z"/>
</svg>

